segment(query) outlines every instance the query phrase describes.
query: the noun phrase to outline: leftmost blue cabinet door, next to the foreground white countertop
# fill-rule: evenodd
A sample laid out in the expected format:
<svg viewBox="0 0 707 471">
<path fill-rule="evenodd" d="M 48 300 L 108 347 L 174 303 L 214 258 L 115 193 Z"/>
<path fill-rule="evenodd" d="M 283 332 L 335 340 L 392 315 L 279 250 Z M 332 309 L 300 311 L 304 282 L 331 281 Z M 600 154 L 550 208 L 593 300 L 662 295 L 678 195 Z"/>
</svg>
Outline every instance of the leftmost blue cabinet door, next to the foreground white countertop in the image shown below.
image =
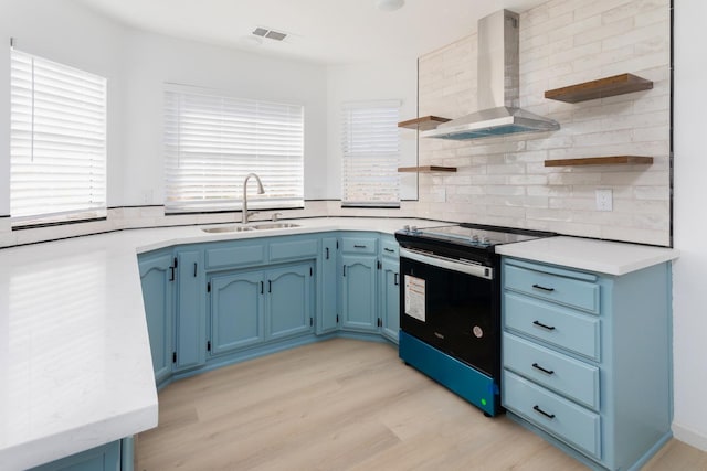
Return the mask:
<svg viewBox="0 0 707 471">
<path fill-rule="evenodd" d="M 155 381 L 159 384 L 172 371 L 172 303 L 175 269 L 171 249 L 139 257 L 143 301 L 152 352 Z"/>
</svg>

